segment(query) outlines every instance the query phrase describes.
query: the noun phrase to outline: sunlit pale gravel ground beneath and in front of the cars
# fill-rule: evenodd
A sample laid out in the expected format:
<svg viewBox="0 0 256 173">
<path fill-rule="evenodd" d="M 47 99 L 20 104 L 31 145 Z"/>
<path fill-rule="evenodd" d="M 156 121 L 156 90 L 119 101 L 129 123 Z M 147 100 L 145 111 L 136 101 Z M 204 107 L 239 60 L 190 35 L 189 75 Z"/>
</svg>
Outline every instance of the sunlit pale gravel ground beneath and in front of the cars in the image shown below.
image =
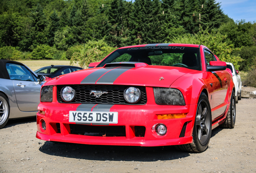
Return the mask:
<svg viewBox="0 0 256 173">
<path fill-rule="evenodd" d="M 0 129 L 0 173 L 256 173 L 255 112 L 256 99 L 239 101 L 235 128 L 214 129 L 203 153 L 41 141 L 35 118 L 10 120 Z"/>
</svg>

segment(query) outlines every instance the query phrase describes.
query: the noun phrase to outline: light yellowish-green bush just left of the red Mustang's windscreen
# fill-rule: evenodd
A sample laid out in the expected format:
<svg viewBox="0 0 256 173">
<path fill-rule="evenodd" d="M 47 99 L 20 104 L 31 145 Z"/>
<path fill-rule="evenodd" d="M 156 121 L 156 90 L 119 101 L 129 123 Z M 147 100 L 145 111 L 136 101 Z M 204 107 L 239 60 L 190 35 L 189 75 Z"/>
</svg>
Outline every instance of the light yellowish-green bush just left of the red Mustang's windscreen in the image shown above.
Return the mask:
<svg viewBox="0 0 256 173">
<path fill-rule="evenodd" d="M 114 50 L 115 48 L 108 46 L 103 40 L 89 41 L 85 44 L 85 51 L 82 48 L 72 54 L 70 64 L 79 62 L 81 67 L 89 66 L 91 62 L 99 62 Z"/>
</svg>

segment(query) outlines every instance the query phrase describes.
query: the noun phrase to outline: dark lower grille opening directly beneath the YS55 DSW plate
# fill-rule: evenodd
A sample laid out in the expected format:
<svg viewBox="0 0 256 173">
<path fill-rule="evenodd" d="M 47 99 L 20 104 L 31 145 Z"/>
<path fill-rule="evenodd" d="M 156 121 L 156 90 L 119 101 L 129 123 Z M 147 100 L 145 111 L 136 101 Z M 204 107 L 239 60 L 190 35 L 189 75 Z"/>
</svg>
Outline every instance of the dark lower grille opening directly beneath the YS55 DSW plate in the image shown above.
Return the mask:
<svg viewBox="0 0 256 173">
<path fill-rule="evenodd" d="M 125 126 L 93 126 L 70 124 L 70 133 L 85 136 L 125 137 Z"/>
</svg>

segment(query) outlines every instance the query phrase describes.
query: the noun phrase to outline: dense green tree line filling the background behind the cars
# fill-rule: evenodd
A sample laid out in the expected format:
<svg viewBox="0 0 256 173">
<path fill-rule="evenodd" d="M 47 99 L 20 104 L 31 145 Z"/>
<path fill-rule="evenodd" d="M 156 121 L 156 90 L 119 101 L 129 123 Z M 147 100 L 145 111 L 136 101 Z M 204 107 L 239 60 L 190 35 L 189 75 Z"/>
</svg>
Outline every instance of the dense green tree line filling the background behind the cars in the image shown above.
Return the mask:
<svg viewBox="0 0 256 173">
<path fill-rule="evenodd" d="M 256 23 L 234 22 L 216 0 L 0 1 L 0 48 L 12 46 L 24 52 L 21 56 L 6 52 L 6 58 L 70 59 L 77 52 L 78 60 L 83 48 L 78 51 L 76 45 L 96 40 L 111 47 L 204 44 L 236 68 L 255 67 Z"/>
</svg>

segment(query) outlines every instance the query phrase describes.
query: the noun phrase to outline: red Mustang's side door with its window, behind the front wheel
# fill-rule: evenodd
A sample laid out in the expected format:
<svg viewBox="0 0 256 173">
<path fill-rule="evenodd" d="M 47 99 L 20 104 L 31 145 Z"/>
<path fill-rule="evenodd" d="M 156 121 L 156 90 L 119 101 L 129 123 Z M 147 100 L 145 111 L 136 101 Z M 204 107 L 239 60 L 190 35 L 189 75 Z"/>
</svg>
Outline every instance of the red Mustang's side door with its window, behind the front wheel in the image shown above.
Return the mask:
<svg viewBox="0 0 256 173">
<path fill-rule="evenodd" d="M 210 61 L 216 61 L 214 54 L 211 53 L 210 50 L 204 49 L 204 57 L 206 61 L 206 65 L 209 64 Z M 218 118 L 223 115 L 227 108 L 227 103 L 225 103 L 225 98 L 227 96 L 227 78 L 225 77 L 225 72 L 222 70 L 207 72 L 211 78 L 213 83 L 213 93 L 211 93 L 210 105 L 212 109 L 212 120 Z"/>
</svg>

